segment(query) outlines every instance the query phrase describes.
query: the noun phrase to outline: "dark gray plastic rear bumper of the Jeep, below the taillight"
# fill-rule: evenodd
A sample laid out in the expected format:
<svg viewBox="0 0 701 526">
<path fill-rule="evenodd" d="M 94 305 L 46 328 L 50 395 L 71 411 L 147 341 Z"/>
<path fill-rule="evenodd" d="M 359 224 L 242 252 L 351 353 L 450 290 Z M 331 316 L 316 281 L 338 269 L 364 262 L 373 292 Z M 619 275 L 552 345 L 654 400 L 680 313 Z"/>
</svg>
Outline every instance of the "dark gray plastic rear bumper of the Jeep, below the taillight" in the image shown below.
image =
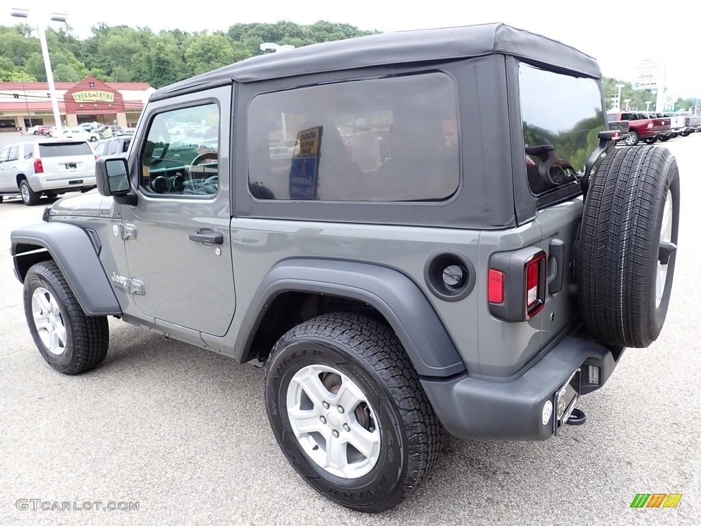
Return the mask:
<svg viewBox="0 0 701 526">
<path fill-rule="evenodd" d="M 620 358 L 622 349 L 617 349 Z M 599 367 L 599 384 L 588 384 L 589 365 Z M 487 382 L 468 375 L 421 379 L 435 412 L 449 433 L 479 440 L 545 440 L 556 428 L 543 423 L 543 406 L 582 369 L 581 394 L 599 389 L 615 369 L 614 354 L 592 339 L 568 336 L 512 382 Z"/>
</svg>

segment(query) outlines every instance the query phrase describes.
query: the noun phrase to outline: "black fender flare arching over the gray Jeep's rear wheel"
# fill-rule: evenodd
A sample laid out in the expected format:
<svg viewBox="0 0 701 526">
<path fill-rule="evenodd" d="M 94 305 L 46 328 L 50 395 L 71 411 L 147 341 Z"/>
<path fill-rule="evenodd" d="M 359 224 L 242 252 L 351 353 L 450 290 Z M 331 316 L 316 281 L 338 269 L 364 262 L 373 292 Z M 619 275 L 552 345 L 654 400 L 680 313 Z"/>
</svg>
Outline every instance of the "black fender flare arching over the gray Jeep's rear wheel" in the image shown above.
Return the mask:
<svg viewBox="0 0 701 526">
<path fill-rule="evenodd" d="M 399 271 L 374 264 L 328 259 L 286 259 L 261 281 L 236 339 L 239 361 L 275 297 L 284 292 L 345 297 L 365 302 L 384 316 L 399 337 L 418 375 L 448 377 L 465 364 L 426 295 Z"/>
</svg>

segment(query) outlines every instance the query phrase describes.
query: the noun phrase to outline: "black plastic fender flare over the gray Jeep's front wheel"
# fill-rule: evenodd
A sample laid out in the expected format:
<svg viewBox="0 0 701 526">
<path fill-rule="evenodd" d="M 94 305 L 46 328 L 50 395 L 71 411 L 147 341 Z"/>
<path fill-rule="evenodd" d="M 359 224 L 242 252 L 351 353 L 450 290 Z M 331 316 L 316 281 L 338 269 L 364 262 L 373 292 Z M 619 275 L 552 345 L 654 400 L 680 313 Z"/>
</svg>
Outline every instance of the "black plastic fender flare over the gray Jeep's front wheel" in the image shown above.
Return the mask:
<svg viewBox="0 0 701 526">
<path fill-rule="evenodd" d="M 27 262 L 41 260 L 36 252 L 45 248 L 88 316 L 122 313 L 95 245 L 84 229 L 75 224 L 49 222 L 15 229 L 10 238 L 15 276 L 20 282 L 27 274 Z"/>
</svg>

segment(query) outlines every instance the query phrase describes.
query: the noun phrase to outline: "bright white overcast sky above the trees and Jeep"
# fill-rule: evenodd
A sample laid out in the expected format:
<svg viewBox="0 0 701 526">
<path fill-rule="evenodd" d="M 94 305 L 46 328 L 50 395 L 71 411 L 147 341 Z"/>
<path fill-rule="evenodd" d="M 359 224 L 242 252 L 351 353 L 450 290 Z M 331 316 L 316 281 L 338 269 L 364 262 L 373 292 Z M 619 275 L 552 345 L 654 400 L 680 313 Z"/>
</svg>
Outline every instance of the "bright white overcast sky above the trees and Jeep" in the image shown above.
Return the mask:
<svg viewBox="0 0 701 526">
<path fill-rule="evenodd" d="M 239 0 L 222 2 L 217 7 L 213 2 L 189 4 L 148 0 L 3 0 L 2 4 L 0 25 L 29 23 L 29 19 L 12 18 L 11 7 L 29 9 L 33 20 L 42 12 L 45 13 L 44 20 L 49 20 L 46 13 L 65 13 L 69 26 L 81 39 L 90 36 L 90 27 L 100 22 L 135 29 L 149 27 L 154 32 L 162 29 L 226 31 L 236 23 L 282 20 L 300 25 L 327 20 L 381 32 L 504 22 L 559 40 L 591 55 L 599 62 L 604 76 L 619 80 L 634 81 L 636 65 L 643 60 L 660 60 L 665 65 L 668 95 L 701 97 L 698 23 L 693 21 L 696 9 L 690 0 L 637 0 L 632 6 L 596 0 L 443 0 L 430 3 L 406 0 Z M 634 20 L 640 23 L 632 24 Z"/>
</svg>

